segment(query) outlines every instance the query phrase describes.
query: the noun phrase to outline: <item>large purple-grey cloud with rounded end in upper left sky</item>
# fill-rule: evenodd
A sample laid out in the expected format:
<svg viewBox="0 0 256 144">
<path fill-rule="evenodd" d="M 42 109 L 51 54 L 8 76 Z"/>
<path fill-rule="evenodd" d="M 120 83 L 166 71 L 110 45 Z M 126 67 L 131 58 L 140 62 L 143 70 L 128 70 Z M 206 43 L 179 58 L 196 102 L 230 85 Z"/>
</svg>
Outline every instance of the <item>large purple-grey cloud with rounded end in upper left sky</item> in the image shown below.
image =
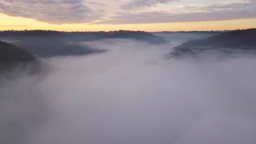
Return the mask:
<svg viewBox="0 0 256 144">
<path fill-rule="evenodd" d="M 3 0 L 0 13 L 48 23 L 87 23 L 101 17 L 102 11 L 90 9 L 83 0 Z"/>
</svg>

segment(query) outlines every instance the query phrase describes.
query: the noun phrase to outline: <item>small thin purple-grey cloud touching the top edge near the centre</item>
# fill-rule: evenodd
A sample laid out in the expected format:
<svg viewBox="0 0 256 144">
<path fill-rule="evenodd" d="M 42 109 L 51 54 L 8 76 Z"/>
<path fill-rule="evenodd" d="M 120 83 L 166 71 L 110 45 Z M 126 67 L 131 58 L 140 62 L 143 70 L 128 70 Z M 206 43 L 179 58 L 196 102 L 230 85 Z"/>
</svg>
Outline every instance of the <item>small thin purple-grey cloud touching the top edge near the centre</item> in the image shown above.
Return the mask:
<svg viewBox="0 0 256 144">
<path fill-rule="evenodd" d="M 133 9 L 139 7 L 153 7 L 159 3 L 177 2 L 179 0 L 133 0 L 121 5 L 123 9 Z"/>
</svg>

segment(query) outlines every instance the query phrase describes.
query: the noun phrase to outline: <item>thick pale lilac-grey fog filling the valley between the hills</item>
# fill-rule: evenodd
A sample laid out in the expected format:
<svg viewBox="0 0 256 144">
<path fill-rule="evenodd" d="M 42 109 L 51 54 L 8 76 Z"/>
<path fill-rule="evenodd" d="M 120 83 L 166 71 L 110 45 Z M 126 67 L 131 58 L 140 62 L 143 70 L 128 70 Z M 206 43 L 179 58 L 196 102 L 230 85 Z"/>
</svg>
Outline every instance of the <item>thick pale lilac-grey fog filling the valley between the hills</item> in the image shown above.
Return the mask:
<svg viewBox="0 0 256 144">
<path fill-rule="evenodd" d="M 46 73 L 5 80 L 0 143 L 254 144 L 256 58 L 167 61 L 178 44 L 82 41 L 107 51 L 43 59 Z"/>
</svg>

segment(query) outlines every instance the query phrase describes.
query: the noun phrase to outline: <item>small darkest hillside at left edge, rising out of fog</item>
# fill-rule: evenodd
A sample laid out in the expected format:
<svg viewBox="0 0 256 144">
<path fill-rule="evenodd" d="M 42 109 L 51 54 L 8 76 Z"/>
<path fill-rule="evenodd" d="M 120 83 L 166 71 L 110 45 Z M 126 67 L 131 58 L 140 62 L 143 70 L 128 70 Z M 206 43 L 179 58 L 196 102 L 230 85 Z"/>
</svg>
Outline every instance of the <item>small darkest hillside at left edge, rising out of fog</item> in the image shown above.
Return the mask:
<svg viewBox="0 0 256 144">
<path fill-rule="evenodd" d="M 0 41 L 0 73 L 36 63 L 38 64 L 37 58 L 27 51 Z"/>
</svg>

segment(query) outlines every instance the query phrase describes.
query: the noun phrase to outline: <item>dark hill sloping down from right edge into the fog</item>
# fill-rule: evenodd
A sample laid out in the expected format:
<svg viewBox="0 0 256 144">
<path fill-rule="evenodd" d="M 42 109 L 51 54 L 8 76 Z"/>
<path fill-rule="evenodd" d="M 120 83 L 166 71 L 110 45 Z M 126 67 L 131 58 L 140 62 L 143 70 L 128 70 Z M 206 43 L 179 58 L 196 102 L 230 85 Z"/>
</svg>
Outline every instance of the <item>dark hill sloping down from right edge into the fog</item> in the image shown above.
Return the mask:
<svg viewBox="0 0 256 144">
<path fill-rule="evenodd" d="M 256 28 L 225 32 L 207 39 L 188 41 L 174 47 L 171 55 L 196 55 L 207 50 L 222 50 L 223 52 L 245 52 L 256 50 Z"/>
</svg>

